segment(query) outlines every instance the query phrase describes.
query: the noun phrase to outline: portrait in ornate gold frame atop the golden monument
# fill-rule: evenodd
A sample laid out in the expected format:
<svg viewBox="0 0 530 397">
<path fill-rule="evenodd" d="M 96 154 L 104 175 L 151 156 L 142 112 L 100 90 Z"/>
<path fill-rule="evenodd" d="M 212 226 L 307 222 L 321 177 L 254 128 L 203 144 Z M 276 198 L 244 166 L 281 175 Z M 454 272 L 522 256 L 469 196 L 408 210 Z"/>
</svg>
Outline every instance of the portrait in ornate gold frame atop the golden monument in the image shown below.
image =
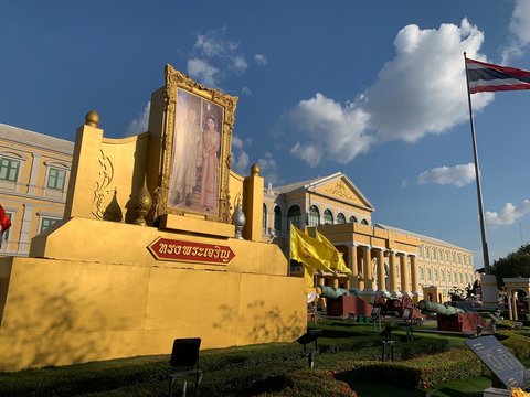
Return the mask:
<svg viewBox="0 0 530 397">
<path fill-rule="evenodd" d="M 236 97 L 166 66 L 161 213 L 230 222 L 230 147 Z"/>
</svg>

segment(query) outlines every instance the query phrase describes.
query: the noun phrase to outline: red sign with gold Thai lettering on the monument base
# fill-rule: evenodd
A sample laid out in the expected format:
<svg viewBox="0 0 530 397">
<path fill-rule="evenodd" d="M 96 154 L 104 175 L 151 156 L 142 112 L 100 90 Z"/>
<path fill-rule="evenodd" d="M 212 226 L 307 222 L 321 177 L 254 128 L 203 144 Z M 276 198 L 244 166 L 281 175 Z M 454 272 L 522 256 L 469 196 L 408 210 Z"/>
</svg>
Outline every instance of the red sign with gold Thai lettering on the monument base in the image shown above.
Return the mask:
<svg viewBox="0 0 530 397">
<path fill-rule="evenodd" d="M 157 259 L 226 265 L 234 257 L 229 246 L 157 238 L 147 247 Z"/>
</svg>

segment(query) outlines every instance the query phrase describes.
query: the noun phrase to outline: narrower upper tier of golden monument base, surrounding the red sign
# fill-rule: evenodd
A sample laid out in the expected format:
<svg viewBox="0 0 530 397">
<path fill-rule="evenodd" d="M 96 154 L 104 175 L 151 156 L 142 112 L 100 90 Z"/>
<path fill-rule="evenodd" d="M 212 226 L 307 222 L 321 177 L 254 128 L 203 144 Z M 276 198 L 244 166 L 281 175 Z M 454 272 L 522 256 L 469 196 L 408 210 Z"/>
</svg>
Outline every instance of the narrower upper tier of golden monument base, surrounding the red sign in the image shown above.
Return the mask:
<svg viewBox="0 0 530 397">
<path fill-rule="evenodd" d="M 194 221 L 194 219 L 189 219 Z M 227 265 L 202 265 L 157 260 L 147 249 L 158 237 L 230 246 L 235 257 Z M 287 260 L 274 244 L 189 235 L 108 221 L 74 217 L 59 222 L 33 238 L 31 257 L 105 262 L 120 265 L 188 267 L 242 271 L 264 275 L 286 275 Z"/>
</svg>

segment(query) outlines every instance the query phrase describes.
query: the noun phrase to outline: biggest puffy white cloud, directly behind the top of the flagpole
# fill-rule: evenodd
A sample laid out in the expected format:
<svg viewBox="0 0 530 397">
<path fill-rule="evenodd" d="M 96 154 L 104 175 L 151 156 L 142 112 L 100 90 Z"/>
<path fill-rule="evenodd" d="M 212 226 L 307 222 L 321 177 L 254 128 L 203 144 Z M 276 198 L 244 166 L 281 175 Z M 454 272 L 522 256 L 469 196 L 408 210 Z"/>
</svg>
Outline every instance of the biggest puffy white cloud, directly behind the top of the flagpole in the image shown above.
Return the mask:
<svg viewBox="0 0 530 397">
<path fill-rule="evenodd" d="M 414 142 L 466 121 L 463 52 L 484 58 L 478 53 L 483 42 L 484 33 L 466 19 L 460 26 L 403 28 L 394 40 L 395 57 L 382 67 L 362 101 L 378 140 Z M 474 96 L 474 110 L 481 110 L 492 98 L 492 94 Z"/>
</svg>

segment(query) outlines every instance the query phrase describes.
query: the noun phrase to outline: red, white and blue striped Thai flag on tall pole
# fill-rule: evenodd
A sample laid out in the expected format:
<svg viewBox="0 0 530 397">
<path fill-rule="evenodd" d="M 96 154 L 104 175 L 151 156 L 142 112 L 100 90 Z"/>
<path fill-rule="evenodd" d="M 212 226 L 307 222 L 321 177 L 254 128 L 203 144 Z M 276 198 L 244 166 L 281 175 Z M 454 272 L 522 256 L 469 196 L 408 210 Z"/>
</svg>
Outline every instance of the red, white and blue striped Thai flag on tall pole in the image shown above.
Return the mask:
<svg viewBox="0 0 530 397">
<path fill-rule="evenodd" d="M 530 89 L 530 72 L 466 57 L 469 94 Z"/>
</svg>

